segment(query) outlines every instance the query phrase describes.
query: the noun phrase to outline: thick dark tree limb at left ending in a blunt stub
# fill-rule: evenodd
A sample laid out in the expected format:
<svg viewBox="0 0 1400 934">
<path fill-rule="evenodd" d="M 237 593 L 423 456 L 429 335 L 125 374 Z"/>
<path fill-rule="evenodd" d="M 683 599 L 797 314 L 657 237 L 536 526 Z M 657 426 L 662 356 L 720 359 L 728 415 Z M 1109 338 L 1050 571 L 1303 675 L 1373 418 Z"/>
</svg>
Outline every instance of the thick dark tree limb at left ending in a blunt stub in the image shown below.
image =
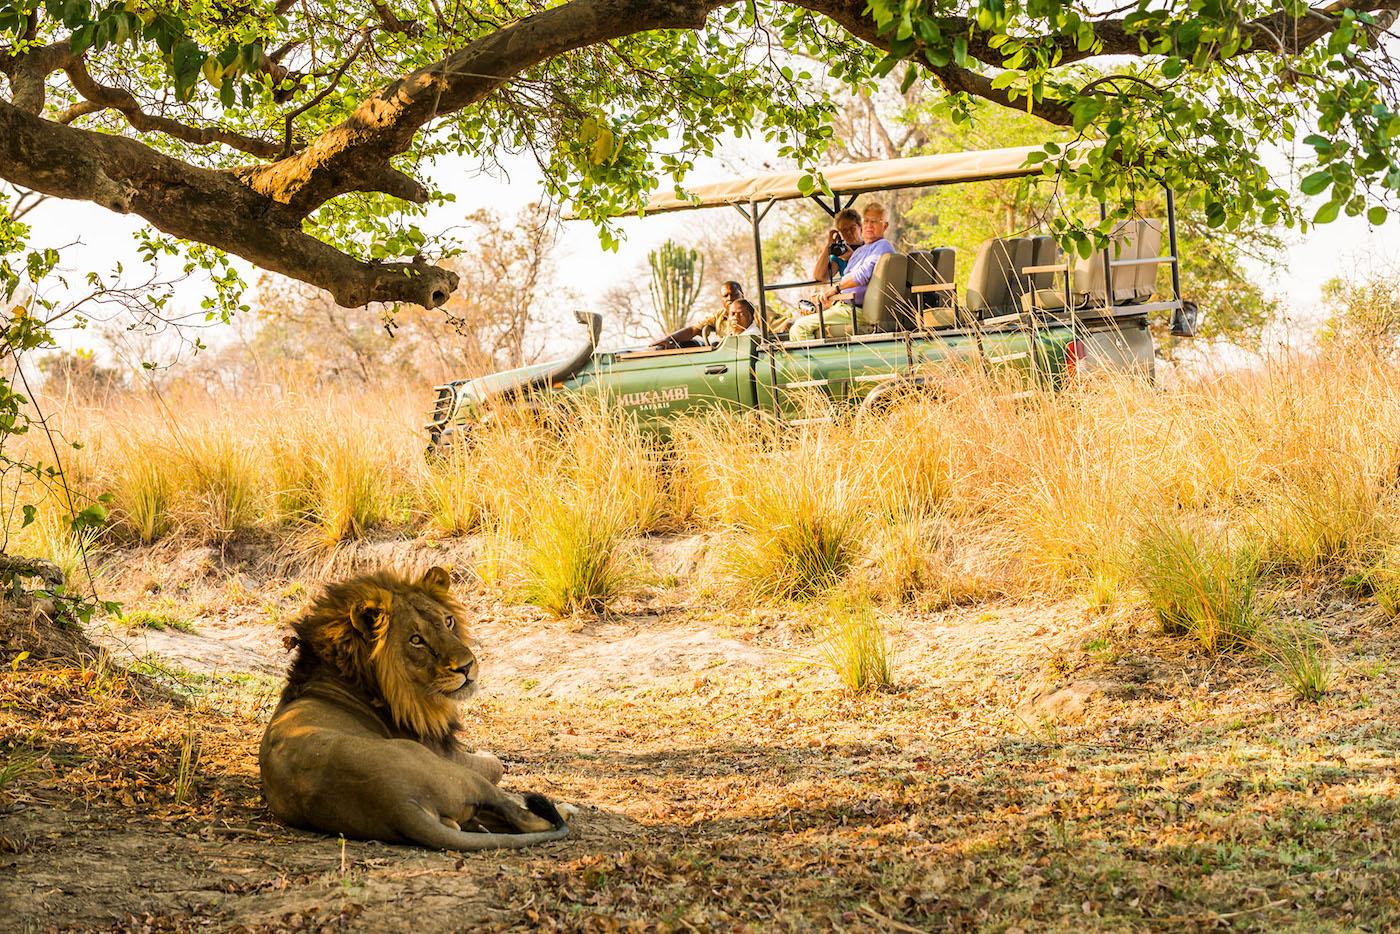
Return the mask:
<svg viewBox="0 0 1400 934">
<path fill-rule="evenodd" d="M 134 213 L 154 227 L 319 286 L 342 305 L 441 305 L 456 274 L 426 262 L 365 263 L 301 230 L 301 217 L 232 172 L 197 168 L 122 136 L 90 133 L 0 101 L 0 176 L 15 185 Z"/>
</svg>

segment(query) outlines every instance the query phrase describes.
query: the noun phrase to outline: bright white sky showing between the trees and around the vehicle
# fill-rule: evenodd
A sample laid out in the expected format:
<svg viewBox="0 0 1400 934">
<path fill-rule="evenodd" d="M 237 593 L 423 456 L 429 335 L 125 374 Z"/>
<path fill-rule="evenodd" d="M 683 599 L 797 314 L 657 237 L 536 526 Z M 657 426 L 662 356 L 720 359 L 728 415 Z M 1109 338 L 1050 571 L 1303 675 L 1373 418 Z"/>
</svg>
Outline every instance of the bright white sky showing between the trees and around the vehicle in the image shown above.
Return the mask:
<svg viewBox="0 0 1400 934">
<path fill-rule="evenodd" d="M 767 171 L 762 168 L 766 157 L 760 146 L 734 140 L 722 146 L 715 158 L 700 161 L 690 181 L 701 183 Z M 423 224 L 427 232 L 459 225 L 466 214 L 480 209 L 491 209 L 510 217 L 542 196 L 538 169 L 524 160 L 507 161 L 504 174 L 489 174 L 466 161 L 448 161 L 440 164 L 434 175 L 445 190 L 456 195 L 456 200 L 433 209 Z M 617 252 L 603 251 L 594 227 L 587 221 L 567 221 L 554 251 L 557 284 L 582 295 L 587 305 L 589 298 L 596 300 L 613 284 L 634 281 L 645 263 L 647 251 L 668 238 L 680 242 L 701 238 L 722 211 L 729 209 L 623 220 L 626 239 Z M 141 228 L 141 221 L 134 216 L 113 214 L 84 202 L 50 199 L 27 220 L 34 227 L 35 245 L 73 244 L 62 253 L 70 281 L 81 284 L 87 270 L 111 270 L 116 262 L 122 263 L 129 280 L 137 280 L 143 274 L 144 263 L 136 252 L 136 232 Z M 948 220 L 955 223 L 953 218 Z M 1281 300 L 1287 318 L 1278 333 L 1295 342 L 1306 340 L 1322 321 L 1320 290 L 1324 281 L 1383 263 L 1400 265 L 1400 223 L 1396 221 L 1371 228 L 1365 218 L 1341 218 L 1306 235 L 1288 232 L 1287 238 L 1288 251 L 1281 267 L 1259 277 Z M 743 274 L 752 280 L 752 270 L 743 270 Z M 248 269 L 245 279 L 252 283 L 256 274 Z M 176 301 L 189 309 L 197 309 L 202 297 L 200 283 L 188 283 L 176 291 Z M 1210 312 L 1208 297 L 1201 301 L 1201 308 L 1203 312 Z M 606 312 L 602 308 L 594 309 Z M 571 316 L 564 318 L 571 321 Z M 211 328 L 200 337 L 204 343 L 217 346 L 231 340 L 232 330 Z M 566 335 L 566 342 L 571 340 Z M 64 335 L 62 342 L 67 347 L 101 346 L 92 332 Z"/>
</svg>

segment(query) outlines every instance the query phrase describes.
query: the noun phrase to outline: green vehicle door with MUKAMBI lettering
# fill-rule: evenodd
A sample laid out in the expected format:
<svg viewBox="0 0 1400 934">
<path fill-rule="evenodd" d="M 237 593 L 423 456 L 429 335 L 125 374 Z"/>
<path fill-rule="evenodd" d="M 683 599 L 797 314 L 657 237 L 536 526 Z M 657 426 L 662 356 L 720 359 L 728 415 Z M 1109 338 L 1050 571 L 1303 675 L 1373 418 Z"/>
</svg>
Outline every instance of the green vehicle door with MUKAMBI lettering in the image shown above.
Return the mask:
<svg viewBox="0 0 1400 934">
<path fill-rule="evenodd" d="M 603 375 L 608 398 L 651 424 L 714 409 L 738 409 L 750 342 L 752 337 L 725 337 L 710 347 L 609 354 Z"/>
</svg>

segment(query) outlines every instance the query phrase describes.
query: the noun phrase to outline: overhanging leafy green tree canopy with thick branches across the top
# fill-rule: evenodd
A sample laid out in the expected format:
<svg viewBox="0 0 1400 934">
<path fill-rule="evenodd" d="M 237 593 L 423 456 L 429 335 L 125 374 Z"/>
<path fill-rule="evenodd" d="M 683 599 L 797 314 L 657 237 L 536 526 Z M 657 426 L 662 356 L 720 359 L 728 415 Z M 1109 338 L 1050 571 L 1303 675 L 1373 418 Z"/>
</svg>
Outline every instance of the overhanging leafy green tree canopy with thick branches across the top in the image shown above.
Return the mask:
<svg viewBox="0 0 1400 934">
<path fill-rule="evenodd" d="M 528 151 L 598 220 L 683 185 L 729 132 L 815 165 L 819 78 L 904 73 L 1067 127 L 1047 165 L 1117 202 L 1155 182 L 1211 225 L 1385 218 L 1400 189 L 1400 0 L 0 0 L 0 178 L 328 288 L 444 304 L 431 164 Z M 804 57 L 806 56 L 806 57 Z M 815 59 L 822 67 L 804 64 Z M 1270 147 L 1299 144 L 1302 190 Z M 1130 200 L 1130 199 L 1128 199 Z M 1110 218 L 1112 221 L 1112 218 Z M 1077 249 L 1092 231 L 1057 232 Z M 1102 231 L 1100 231 L 1102 232 Z"/>
</svg>

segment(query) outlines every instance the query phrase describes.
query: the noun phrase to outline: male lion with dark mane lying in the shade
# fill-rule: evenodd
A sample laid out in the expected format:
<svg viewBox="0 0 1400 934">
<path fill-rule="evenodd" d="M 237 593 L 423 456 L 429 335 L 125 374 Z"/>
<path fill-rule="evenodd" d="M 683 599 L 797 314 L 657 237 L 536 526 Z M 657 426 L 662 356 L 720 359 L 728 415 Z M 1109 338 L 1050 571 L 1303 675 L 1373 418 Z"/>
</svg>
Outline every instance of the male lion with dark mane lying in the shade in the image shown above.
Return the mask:
<svg viewBox="0 0 1400 934">
<path fill-rule="evenodd" d="M 524 847 L 568 835 L 543 795 L 496 787 L 491 755 L 458 742 L 476 658 L 447 571 L 326 587 L 295 623 L 297 655 L 258 765 L 279 821 L 440 850 Z M 463 832 L 477 822 L 493 830 Z"/>
</svg>

